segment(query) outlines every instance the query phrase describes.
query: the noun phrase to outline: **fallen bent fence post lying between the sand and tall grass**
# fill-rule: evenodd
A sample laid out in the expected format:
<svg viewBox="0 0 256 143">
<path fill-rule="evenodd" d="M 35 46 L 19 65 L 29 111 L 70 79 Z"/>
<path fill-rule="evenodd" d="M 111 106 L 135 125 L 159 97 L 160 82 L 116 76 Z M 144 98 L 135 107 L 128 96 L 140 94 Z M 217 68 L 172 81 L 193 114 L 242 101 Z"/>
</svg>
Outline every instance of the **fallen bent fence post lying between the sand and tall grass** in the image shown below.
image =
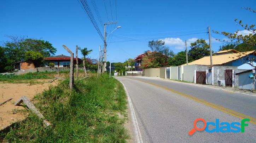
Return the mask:
<svg viewBox="0 0 256 143">
<path fill-rule="evenodd" d="M 43 115 L 40 113 L 40 111 L 38 111 L 38 110 L 36 109 L 36 107 L 34 106 L 34 104 L 30 102 L 30 100 L 27 98 L 27 96 L 22 96 L 22 97 L 14 104 L 14 106 L 17 106 L 17 105 L 21 104 L 22 102 L 24 102 L 24 103 L 27 105 L 27 107 L 28 107 L 32 112 L 34 112 L 40 119 L 43 119 L 43 124 L 44 124 L 44 126 L 47 127 L 47 126 L 50 126 L 50 125 L 51 125 L 51 123 L 49 123 L 49 122 L 45 119 L 45 117 L 43 117 Z"/>
</svg>

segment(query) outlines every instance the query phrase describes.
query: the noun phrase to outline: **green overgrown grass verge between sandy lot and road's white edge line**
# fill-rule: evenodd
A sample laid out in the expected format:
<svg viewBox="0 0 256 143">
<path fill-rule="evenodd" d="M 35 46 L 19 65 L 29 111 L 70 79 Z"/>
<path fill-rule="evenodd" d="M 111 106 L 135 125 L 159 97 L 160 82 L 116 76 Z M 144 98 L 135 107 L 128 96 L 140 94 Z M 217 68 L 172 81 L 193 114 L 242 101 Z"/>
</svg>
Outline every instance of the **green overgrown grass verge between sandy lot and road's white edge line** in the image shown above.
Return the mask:
<svg viewBox="0 0 256 143">
<path fill-rule="evenodd" d="M 24 121 L 14 123 L 0 138 L 6 142 L 126 142 L 123 124 L 126 118 L 126 93 L 123 86 L 107 74 L 97 78 L 69 81 L 35 97 L 35 106 L 53 124 L 43 128 L 42 121 L 30 113 Z"/>
</svg>

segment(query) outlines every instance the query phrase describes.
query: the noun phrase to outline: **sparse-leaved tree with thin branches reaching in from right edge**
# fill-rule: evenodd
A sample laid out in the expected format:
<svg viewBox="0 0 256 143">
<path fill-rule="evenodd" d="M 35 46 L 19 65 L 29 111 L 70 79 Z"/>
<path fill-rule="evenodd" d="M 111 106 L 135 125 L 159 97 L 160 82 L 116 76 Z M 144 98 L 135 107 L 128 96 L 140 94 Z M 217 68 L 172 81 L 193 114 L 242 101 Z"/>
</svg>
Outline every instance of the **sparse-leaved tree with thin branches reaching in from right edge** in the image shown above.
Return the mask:
<svg viewBox="0 0 256 143">
<path fill-rule="evenodd" d="M 251 8 L 244 8 L 244 9 L 247 9 L 248 11 L 250 11 L 254 14 L 256 13 L 256 11 L 252 10 Z M 223 41 L 226 43 L 232 43 L 232 44 L 236 44 L 236 45 L 241 44 L 241 43 L 246 44 L 246 45 L 251 45 L 255 49 L 255 46 L 256 46 L 256 35 L 255 35 L 256 29 L 254 28 L 255 24 L 251 24 L 251 25 L 243 24 L 242 20 L 238 21 L 238 19 L 235 19 L 235 23 L 237 25 L 240 25 L 244 30 L 249 31 L 250 33 L 248 35 L 242 35 L 239 33 L 240 32 L 239 30 L 235 31 L 234 33 L 229 33 L 229 32 L 224 32 L 224 31 L 223 32 L 213 31 L 214 33 L 224 35 L 225 37 L 228 38 L 228 40 L 220 40 L 220 39 L 216 39 L 216 40 Z M 256 59 L 253 57 L 250 58 L 249 56 L 244 56 L 244 54 L 246 54 L 246 52 L 243 52 L 240 54 L 234 54 L 234 56 L 238 57 L 243 63 L 251 65 L 255 69 L 254 63 L 255 63 Z M 246 59 L 248 59 L 248 60 L 246 60 Z M 255 75 L 254 75 L 252 83 L 253 83 L 252 90 L 255 90 Z"/>
</svg>

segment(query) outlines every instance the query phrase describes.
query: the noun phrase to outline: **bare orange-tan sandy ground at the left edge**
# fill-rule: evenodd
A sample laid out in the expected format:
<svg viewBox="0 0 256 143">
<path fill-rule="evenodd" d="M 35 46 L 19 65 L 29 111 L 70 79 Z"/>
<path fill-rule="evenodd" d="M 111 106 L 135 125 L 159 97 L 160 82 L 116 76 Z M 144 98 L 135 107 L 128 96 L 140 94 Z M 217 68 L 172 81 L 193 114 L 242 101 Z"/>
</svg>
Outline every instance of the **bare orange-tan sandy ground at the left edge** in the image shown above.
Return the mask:
<svg viewBox="0 0 256 143">
<path fill-rule="evenodd" d="M 27 96 L 31 100 L 36 94 L 41 93 L 45 89 L 47 90 L 50 85 L 54 86 L 58 83 L 58 80 L 52 83 L 48 83 L 48 81 L 49 79 L 40 80 L 40 82 L 44 83 L 34 85 L 0 83 L 0 103 L 12 98 L 12 100 L 0 106 L 0 130 L 27 116 L 26 113 L 14 112 L 15 109 L 24 109 L 22 106 L 13 105 L 21 96 Z"/>
</svg>

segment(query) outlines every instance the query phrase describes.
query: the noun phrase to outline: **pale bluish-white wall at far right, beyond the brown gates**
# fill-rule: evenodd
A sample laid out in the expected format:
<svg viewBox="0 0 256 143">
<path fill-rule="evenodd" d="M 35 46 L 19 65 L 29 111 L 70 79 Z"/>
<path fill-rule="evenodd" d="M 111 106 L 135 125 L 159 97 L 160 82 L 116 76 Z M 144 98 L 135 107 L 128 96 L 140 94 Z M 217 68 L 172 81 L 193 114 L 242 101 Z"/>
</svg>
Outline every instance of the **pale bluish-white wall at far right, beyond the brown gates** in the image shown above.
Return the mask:
<svg viewBox="0 0 256 143">
<path fill-rule="evenodd" d="M 238 76 L 238 80 L 239 80 L 238 87 L 239 87 L 239 89 L 252 90 L 252 86 L 253 86 L 252 81 L 253 81 L 253 79 L 249 78 L 249 74 L 251 74 L 251 73 L 252 73 L 252 71 L 235 75 L 235 76 Z"/>
</svg>

